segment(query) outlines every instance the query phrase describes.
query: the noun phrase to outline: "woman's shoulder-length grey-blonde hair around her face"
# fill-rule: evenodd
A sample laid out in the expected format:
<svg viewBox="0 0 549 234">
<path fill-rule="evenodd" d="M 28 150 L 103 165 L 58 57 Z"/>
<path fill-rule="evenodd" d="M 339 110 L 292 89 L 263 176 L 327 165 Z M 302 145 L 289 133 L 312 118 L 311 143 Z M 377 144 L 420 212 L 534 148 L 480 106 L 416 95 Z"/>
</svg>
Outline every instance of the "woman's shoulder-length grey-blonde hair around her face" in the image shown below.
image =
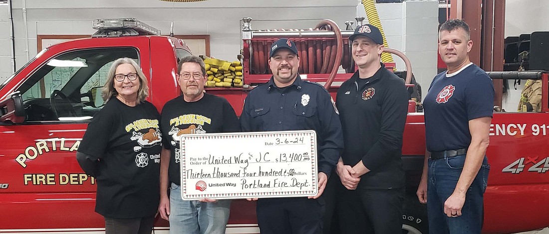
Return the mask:
<svg viewBox="0 0 549 234">
<path fill-rule="evenodd" d="M 113 62 L 113 65 L 110 66 L 109 73 L 107 74 L 107 81 L 103 85 L 103 100 L 105 101 L 105 103 L 107 103 L 107 101 L 113 98 L 113 96 L 118 95 L 116 89 L 114 88 L 114 75 L 116 73 L 116 68 L 121 64 L 131 64 L 137 72 L 137 77 L 139 77 L 140 85 L 139 90 L 137 90 L 136 104 L 139 104 L 144 101 L 147 96 L 149 96 L 149 87 L 147 85 L 147 77 L 145 77 L 145 74 L 143 73 L 143 71 L 141 71 L 141 68 L 139 67 L 139 65 L 137 65 L 137 62 L 133 61 L 133 59 L 130 58 L 117 59 Z"/>
</svg>

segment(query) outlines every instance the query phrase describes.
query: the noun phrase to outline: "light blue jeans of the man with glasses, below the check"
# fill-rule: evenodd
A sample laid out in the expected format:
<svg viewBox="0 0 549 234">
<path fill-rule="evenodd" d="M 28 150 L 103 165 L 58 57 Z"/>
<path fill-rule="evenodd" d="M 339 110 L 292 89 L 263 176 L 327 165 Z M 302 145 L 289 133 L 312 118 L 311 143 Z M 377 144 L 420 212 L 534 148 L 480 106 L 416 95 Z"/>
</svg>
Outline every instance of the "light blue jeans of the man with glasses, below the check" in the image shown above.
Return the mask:
<svg viewBox="0 0 549 234">
<path fill-rule="evenodd" d="M 183 201 L 181 187 L 170 187 L 170 233 L 176 234 L 223 234 L 231 200 L 217 200 L 214 203 Z"/>
</svg>

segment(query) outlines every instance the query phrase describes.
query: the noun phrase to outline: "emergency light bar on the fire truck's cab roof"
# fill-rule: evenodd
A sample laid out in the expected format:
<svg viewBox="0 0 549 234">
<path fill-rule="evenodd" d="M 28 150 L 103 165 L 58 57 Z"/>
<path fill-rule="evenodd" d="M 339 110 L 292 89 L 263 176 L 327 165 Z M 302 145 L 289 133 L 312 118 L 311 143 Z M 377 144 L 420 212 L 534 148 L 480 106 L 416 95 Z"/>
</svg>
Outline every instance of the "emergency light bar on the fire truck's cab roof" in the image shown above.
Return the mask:
<svg viewBox="0 0 549 234">
<path fill-rule="evenodd" d="M 93 28 L 99 30 L 98 32 L 102 32 L 100 34 L 96 33 L 94 36 L 125 36 L 127 33 L 125 34 L 124 31 L 133 36 L 132 30 L 135 30 L 139 35 L 160 35 L 160 30 L 135 18 L 97 19 L 93 21 Z M 122 31 L 122 33 L 111 35 L 115 31 Z"/>
</svg>

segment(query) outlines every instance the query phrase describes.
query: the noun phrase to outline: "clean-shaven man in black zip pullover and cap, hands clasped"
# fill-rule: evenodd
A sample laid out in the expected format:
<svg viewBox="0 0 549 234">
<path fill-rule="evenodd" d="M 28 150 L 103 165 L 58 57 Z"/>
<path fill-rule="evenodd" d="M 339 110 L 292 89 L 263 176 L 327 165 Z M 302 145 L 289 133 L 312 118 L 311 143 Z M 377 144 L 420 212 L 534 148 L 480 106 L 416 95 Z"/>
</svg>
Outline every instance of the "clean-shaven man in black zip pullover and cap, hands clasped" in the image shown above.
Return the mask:
<svg viewBox="0 0 549 234">
<path fill-rule="evenodd" d="M 372 25 L 349 37 L 358 71 L 338 90 L 345 149 L 337 165 L 341 233 L 400 233 L 405 176 L 402 132 L 408 93 L 380 63 L 383 38 Z"/>
</svg>

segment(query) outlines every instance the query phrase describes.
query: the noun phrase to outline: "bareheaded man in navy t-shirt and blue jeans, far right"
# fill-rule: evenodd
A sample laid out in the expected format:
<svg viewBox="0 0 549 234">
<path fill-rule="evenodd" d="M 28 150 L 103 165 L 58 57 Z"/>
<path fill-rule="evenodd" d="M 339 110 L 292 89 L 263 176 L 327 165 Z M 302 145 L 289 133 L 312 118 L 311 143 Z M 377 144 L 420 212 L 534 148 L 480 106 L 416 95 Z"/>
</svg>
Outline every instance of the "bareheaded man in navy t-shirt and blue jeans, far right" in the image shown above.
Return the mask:
<svg viewBox="0 0 549 234">
<path fill-rule="evenodd" d="M 425 164 L 417 196 L 427 203 L 430 233 L 480 233 L 490 166 L 485 153 L 494 106 L 494 84 L 469 60 L 469 26 L 440 26 L 439 54 L 448 67 L 423 100 Z"/>
</svg>

